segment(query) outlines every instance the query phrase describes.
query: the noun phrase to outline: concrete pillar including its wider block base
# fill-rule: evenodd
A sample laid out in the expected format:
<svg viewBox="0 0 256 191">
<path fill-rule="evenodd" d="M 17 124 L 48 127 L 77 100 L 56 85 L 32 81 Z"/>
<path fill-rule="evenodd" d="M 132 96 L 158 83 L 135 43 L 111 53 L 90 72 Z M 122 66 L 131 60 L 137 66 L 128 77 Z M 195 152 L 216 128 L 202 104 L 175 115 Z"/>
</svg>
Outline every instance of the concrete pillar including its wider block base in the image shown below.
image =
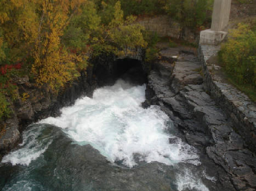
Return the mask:
<svg viewBox="0 0 256 191">
<path fill-rule="evenodd" d="M 199 44 L 219 44 L 227 32 L 225 28 L 229 22 L 231 0 L 214 0 L 212 26 L 200 32 Z"/>
</svg>

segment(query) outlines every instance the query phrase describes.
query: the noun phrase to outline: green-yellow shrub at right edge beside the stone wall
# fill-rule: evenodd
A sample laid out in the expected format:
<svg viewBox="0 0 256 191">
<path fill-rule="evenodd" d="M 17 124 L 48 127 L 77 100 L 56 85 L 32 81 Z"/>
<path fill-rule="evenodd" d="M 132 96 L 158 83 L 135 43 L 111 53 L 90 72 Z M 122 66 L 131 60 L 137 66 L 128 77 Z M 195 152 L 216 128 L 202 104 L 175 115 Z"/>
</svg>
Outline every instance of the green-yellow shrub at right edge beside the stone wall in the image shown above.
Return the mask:
<svg viewBox="0 0 256 191">
<path fill-rule="evenodd" d="M 256 33 L 248 25 L 238 24 L 221 46 L 219 58 L 227 74 L 237 83 L 256 86 Z"/>
</svg>

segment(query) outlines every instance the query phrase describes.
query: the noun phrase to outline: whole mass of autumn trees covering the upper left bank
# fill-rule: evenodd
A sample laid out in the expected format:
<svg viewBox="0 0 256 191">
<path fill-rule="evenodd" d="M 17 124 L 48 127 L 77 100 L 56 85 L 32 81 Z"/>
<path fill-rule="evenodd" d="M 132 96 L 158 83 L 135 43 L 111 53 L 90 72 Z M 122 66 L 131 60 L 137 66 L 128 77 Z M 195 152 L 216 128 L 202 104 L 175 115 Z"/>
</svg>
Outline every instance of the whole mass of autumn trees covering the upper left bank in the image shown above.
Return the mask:
<svg viewBox="0 0 256 191">
<path fill-rule="evenodd" d="M 2 0 L 0 61 L 24 63 L 38 86 L 58 90 L 87 67 L 90 55 L 125 55 L 146 45 L 134 17 L 124 20 L 120 1 L 94 2 Z"/>
</svg>

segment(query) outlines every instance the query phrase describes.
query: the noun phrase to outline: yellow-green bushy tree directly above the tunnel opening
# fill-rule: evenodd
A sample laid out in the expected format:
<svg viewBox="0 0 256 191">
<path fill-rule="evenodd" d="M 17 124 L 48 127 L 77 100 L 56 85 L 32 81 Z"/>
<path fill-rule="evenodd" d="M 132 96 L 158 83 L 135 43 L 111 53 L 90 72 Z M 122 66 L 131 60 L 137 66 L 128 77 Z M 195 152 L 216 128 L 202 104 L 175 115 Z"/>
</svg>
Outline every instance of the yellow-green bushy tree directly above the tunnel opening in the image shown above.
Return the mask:
<svg viewBox="0 0 256 191">
<path fill-rule="evenodd" d="M 112 52 L 118 56 L 124 56 L 127 53 L 132 53 L 136 47 L 146 46 L 147 43 L 143 37 L 144 27 L 135 24 L 133 16 L 124 19 L 120 1 L 114 5 L 102 2 L 102 5 L 102 17 L 107 15 L 111 20 L 101 21 L 103 26 L 100 28 L 100 35 L 95 37 L 92 42 L 96 55 L 99 55 L 100 52 Z"/>
</svg>

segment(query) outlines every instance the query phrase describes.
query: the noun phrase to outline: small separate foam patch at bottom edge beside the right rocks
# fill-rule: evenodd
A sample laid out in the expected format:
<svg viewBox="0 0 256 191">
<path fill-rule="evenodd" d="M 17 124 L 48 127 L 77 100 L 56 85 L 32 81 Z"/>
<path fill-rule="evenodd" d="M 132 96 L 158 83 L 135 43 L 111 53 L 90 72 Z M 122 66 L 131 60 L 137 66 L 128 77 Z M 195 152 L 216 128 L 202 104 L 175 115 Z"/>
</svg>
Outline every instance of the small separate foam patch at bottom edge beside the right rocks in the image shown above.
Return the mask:
<svg viewBox="0 0 256 191">
<path fill-rule="evenodd" d="M 189 170 L 184 170 L 182 174 L 178 174 L 177 187 L 179 191 L 183 190 L 200 190 L 209 191 L 209 189 L 202 183 L 202 180 L 193 175 Z"/>
</svg>

